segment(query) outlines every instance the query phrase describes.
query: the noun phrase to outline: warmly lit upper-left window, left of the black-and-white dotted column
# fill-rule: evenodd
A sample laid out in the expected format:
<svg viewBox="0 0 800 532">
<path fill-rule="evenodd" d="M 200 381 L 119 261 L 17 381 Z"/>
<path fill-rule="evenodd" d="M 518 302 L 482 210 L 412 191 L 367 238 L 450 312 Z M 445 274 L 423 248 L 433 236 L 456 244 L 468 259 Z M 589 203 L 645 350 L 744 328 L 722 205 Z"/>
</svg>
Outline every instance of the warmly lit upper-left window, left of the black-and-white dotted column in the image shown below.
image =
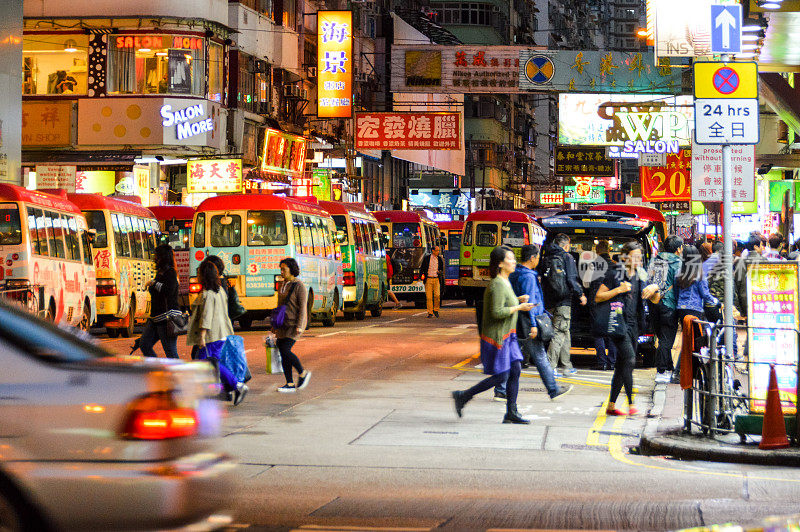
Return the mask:
<svg viewBox="0 0 800 532">
<path fill-rule="evenodd" d="M 88 35 L 24 35 L 23 94 L 86 94 Z"/>
</svg>

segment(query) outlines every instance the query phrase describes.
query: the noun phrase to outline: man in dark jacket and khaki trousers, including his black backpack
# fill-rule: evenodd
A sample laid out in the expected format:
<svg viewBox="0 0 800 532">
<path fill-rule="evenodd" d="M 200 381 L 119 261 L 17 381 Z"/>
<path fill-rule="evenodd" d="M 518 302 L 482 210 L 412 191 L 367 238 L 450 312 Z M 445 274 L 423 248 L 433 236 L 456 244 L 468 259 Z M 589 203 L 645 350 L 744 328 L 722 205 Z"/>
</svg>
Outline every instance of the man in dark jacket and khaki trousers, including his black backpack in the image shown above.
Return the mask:
<svg viewBox="0 0 800 532">
<path fill-rule="evenodd" d="M 569 236 L 559 233 L 553 239 L 549 252 L 542 265 L 544 301 L 548 312 L 553 316 L 553 339 L 547 351 L 554 375 L 558 375 L 558 362 L 564 366 L 564 375 L 574 375 L 578 371 L 572 367 L 570 349 L 572 338 L 572 298 L 586 304 L 586 296 L 578 279 L 575 259 L 569 254 Z"/>
</svg>

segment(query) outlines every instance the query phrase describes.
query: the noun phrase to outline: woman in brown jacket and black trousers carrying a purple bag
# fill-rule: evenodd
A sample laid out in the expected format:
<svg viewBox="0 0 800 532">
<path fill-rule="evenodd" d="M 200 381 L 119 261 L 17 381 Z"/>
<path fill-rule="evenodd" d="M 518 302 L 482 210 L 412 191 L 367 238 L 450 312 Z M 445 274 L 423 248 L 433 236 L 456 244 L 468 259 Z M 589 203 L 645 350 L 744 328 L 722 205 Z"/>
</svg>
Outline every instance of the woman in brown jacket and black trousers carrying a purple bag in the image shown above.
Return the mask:
<svg viewBox="0 0 800 532">
<path fill-rule="evenodd" d="M 286 384 L 278 388 L 281 393 L 294 393 L 308 386 L 311 372 L 303 368 L 300 359 L 292 352 L 300 335 L 308 325 L 308 290 L 303 281 L 297 278 L 300 275 L 300 266 L 297 261 L 287 257 L 280 262 L 281 285 L 278 302 L 286 305 L 286 314 L 280 327 L 273 327 L 272 331 L 277 338 L 278 351 L 281 353 L 283 376 Z M 297 385 L 295 386 L 292 369 L 297 370 Z"/>
</svg>

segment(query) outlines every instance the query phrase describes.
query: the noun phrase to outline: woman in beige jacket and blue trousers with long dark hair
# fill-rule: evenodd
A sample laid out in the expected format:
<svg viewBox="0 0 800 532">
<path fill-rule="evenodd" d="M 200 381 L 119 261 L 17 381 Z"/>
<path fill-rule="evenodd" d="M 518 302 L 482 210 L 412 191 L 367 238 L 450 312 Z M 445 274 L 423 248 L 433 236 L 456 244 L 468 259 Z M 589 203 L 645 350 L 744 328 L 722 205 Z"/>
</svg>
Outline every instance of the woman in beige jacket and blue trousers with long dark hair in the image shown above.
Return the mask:
<svg viewBox="0 0 800 532">
<path fill-rule="evenodd" d="M 218 367 L 225 392 L 233 393 L 233 404 L 238 405 L 249 389 L 236 380 L 229 368 L 219 363 L 225 339 L 233 334 L 233 325 L 228 317 L 228 296 L 222 289 L 219 270 L 209 260 L 200 263 L 197 279 L 202 291 L 192 302 L 187 343 L 198 347 L 200 360 L 210 359 Z"/>
</svg>

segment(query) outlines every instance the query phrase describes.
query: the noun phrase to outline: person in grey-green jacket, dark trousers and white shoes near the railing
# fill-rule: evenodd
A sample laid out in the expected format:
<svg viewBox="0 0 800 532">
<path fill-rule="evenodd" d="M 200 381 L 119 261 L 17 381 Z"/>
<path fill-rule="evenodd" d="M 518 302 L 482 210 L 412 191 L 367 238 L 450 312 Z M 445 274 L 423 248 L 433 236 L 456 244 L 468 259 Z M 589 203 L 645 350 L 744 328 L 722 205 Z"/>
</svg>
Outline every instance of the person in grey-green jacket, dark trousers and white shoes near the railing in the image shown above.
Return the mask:
<svg viewBox="0 0 800 532">
<path fill-rule="evenodd" d="M 653 321 L 658 349 L 656 351 L 656 382 L 667 383 L 672 378 L 675 365 L 672 361 L 672 346 L 678 334 L 678 287 L 675 277 L 681 269 L 683 240 L 671 235 L 664 241 L 664 250 L 656 255 L 650 263 L 649 278 L 658 285 L 661 301 L 658 305 L 650 305 L 653 309 Z"/>
</svg>

